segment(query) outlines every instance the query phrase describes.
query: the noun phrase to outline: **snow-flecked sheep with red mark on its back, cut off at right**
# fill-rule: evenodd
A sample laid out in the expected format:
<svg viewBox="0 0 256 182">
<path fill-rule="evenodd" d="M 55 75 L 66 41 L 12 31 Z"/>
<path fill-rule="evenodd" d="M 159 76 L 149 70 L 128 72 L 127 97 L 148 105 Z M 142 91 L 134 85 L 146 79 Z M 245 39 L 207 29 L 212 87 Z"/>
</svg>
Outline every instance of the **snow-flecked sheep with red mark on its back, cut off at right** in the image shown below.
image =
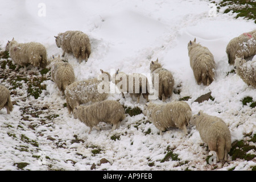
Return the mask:
<svg viewBox="0 0 256 182">
<path fill-rule="evenodd" d="M 238 57 L 243 56 L 248 60 L 256 55 L 256 29 L 250 32 L 245 32 L 230 40 L 226 46 L 226 53 L 228 55 L 228 63 L 230 65 L 234 64 L 236 55 Z"/>
</svg>

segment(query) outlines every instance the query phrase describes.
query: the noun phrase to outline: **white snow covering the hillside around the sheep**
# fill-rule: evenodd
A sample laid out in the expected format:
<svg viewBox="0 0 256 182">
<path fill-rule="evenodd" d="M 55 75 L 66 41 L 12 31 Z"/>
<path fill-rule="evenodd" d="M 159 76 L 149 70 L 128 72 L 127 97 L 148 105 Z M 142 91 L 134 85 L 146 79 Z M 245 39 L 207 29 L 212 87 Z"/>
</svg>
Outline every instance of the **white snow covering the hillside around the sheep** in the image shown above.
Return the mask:
<svg viewBox="0 0 256 182">
<path fill-rule="evenodd" d="M 79 64 L 73 55 L 65 56 L 75 69 L 76 80 L 97 77 L 100 69 L 110 72 L 119 68 L 125 73 L 147 74 L 150 62 L 158 58 L 163 67 L 173 73 L 175 88 L 180 86 L 180 94 L 173 94 L 170 101 L 191 97 L 187 103 L 193 114 L 204 110 L 222 118 L 229 126 L 232 142 L 243 139 L 245 134 L 255 134 L 256 107 L 243 106 L 241 100 L 250 96 L 256 101 L 256 89 L 247 86 L 234 73 L 226 76 L 233 67 L 228 64 L 225 52 L 229 40 L 256 28 L 253 20 L 234 19 L 232 14 L 209 16 L 209 1 L 199 0 L 0 0 L 0 5 L 1 48 L 13 37 L 19 43 L 40 42 L 46 46 L 48 59 L 51 59 L 52 55 L 62 54 L 53 36 L 67 30 L 83 31 L 92 42 L 88 61 Z M 189 65 L 187 44 L 194 38 L 209 48 L 216 61 L 216 80 L 209 86 L 196 84 Z M 89 127 L 68 115 L 67 107 L 63 107 L 65 98 L 56 85 L 50 80 L 46 84 L 47 89 L 38 100 L 30 97 L 21 103 L 24 106 L 48 105 L 49 113 L 59 115 L 51 123 L 40 125 L 40 118 L 46 116 L 40 114 L 39 118 L 32 118 L 38 123 L 35 130 L 20 129 L 20 105 L 15 105 L 10 115 L 5 109 L 0 110 L 1 170 L 16 170 L 14 164 L 20 162 L 28 163 L 24 169 L 30 170 L 90 170 L 93 163 L 96 170 L 213 169 L 205 162 L 208 151 L 195 126 L 188 127 L 189 134 L 185 137 L 179 129 L 168 130 L 161 136 L 155 126 L 139 114 L 127 116 L 113 133 L 110 133 L 110 125 L 100 123 L 101 131 L 93 129 L 89 135 Z M 209 91 L 214 101 L 193 102 Z M 123 99 L 120 94 L 110 94 L 108 99 L 119 99 L 125 106 L 141 109 L 145 104 L 143 98 L 141 104 L 136 104 L 130 97 Z M 30 121 L 22 123 L 30 125 Z M 148 129 L 151 133 L 145 134 Z M 20 151 L 17 148 L 22 148 L 24 142 L 18 138 L 23 135 L 30 143 L 23 147 L 25 151 Z M 74 135 L 84 142 L 73 143 Z M 111 139 L 113 135 L 118 135 L 119 139 Z M 49 136 L 55 140 L 47 139 Z M 39 146 L 33 146 L 32 140 Z M 64 147 L 60 147 L 61 144 Z M 168 146 L 179 161 L 161 162 Z M 100 153 L 93 155 L 92 151 L 98 148 Z M 253 152 L 255 154 L 255 151 L 250 154 Z M 98 165 L 102 158 L 109 163 Z M 255 165 L 255 160 L 232 161 L 229 156 L 229 162 L 218 164 L 217 169 L 250 170 Z"/>
</svg>

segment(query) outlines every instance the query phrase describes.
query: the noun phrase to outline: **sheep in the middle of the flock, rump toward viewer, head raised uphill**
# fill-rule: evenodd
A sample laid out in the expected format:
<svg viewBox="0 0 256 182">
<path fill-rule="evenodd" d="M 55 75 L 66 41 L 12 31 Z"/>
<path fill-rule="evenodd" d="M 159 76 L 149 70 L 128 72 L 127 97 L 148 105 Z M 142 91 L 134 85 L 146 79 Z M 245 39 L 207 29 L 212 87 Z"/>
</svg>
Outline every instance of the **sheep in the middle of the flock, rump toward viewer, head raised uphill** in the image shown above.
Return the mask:
<svg viewBox="0 0 256 182">
<path fill-rule="evenodd" d="M 172 96 L 172 89 L 174 88 L 174 77 L 172 73 L 167 69 L 162 68 L 162 65 L 156 61 L 151 61 L 150 63 L 150 71 L 152 73 L 152 85 L 155 87 L 155 75 L 158 74 L 159 85 L 158 85 L 158 98 L 163 102 L 166 101 L 167 98 Z"/>
</svg>

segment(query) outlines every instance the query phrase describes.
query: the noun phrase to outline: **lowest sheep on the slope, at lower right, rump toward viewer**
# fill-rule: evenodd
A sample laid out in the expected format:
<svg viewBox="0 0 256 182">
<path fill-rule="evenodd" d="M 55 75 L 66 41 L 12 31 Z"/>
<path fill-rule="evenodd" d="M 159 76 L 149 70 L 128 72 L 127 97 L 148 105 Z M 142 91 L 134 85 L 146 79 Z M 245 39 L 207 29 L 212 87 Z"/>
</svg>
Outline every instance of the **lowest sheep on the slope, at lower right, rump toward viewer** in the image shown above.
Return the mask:
<svg viewBox="0 0 256 182">
<path fill-rule="evenodd" d="M 216 151 L 217 162 L 227 160 L 231 148 L 231 135 L 226 123 L 216 116 L 203 113 L 193 115 L 191 125 L 196 125 L 203 142 L 207 143 L 210 151 Z"/>
</svg>

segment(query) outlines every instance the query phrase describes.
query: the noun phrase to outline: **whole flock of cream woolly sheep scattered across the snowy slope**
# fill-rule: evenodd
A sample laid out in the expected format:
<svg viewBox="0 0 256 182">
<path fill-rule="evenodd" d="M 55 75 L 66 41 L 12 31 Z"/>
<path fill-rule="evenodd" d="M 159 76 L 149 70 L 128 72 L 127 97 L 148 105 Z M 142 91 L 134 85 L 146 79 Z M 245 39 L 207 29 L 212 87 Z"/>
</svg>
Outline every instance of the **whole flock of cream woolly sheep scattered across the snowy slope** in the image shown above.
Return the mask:
<svg viewBox="0 0 256 182">
<path fill-rule="evenodd" d="M 82 60 L 88 60 L 91 46 L 86 34 L 81 31 L 67 31 L 60 33 L 55 38 L 57 47 L 63 49 L 62 56 L 67 52 L 73 53 L 79 63 Z M 110 76 L 108 72 L 101 69 L 101 74 L 105 76 L 105 79 L 90 78 L 89 80 L 75 82 L 75 74 L 71 64 L 63 62 L 60 56 L 53 57 L 53 60 L 49 63 L 46 48 L 40 43 L 22 44 L 13 39 L 8 41 L 6 51 L 9 51 L 14 63 L 20 66 L 31 64 L 34 67 L 45 68 L 50 64 L 52 81 L 65 95 L 68 113 L 73 113 L 75 119 L 79 118 L 81 122 L 90 127 L 90 131 L 93 127 L 100 130 L 97 127 L 99 122 L 111 123 L 113 131 L 125 119 L 126 115 L 122 105 L 118 101 L 106 100 L 108 93 L 99 93 L 97 88 L 102 81 L 109 85 L 112 80 L 115 85 L 118 85 L 123 78 L 127 78 L 127 85 L 122 84 L 118 87 L 121 90 L 122 97 L 125 98 L 122 86 L 129 88 L 129 79 L 126 73 L 119 72 L 118 69 L 113 76 Z M 230 40 L 226 47 L 226 53 L 228 54 L 229 64 L 234 65 L 236 73 L 247 85 L 256 88 L 256 61 L 245 60 L 256 55 L 256 30 L 246 32 Z M 215 76 L 215 62 L 212 53 L 207 47 L 196 43 L 195 39 L 188 43 L 188 55 L 197 84 L 210 85 Z M 166 99 L 172 96 L 174 77 L 170 71 L 162 68 L 158 60 L 151 61 L 150 71 L 153 86 L 156 86 L 154 85 L 154 73 L 158 74 L 158 98 L 163 101 L 163 104 L 149 102 L 144 105 L 143 114 L 160 130 L 160 134 L 168 127 L 177 127 L 183 130 L 184 134 L 187 134 L 187 126 L 189 124 L 196 125 L 201 139 L 208 144 L 209 150 L 216 151 L 217 161 L 227 160 L 231 148 L 231 137 L 225 122 L 221 118 L 205 114 L 203 111 L 199 111 L 198 114 L 192 116 L 191 107 L 185 101 L 166 103 Z M 133 82 L 133 92 L 129 90 L 131 97 L 137 97 L 138 103 L 139 97 L 143 95 L 148 102 L 149 83 L 147 77 L 140 73 L 132 74 L 134 78 L 139 79 L 139 92 L 135 92 L 136 88 Z M 0 110 L 6 107 L 7 114 L 10 114 L 13 105 L 11 104 L 10 92 L 5 86 L 0 86 L 0 96 Z"/>
</svg>

